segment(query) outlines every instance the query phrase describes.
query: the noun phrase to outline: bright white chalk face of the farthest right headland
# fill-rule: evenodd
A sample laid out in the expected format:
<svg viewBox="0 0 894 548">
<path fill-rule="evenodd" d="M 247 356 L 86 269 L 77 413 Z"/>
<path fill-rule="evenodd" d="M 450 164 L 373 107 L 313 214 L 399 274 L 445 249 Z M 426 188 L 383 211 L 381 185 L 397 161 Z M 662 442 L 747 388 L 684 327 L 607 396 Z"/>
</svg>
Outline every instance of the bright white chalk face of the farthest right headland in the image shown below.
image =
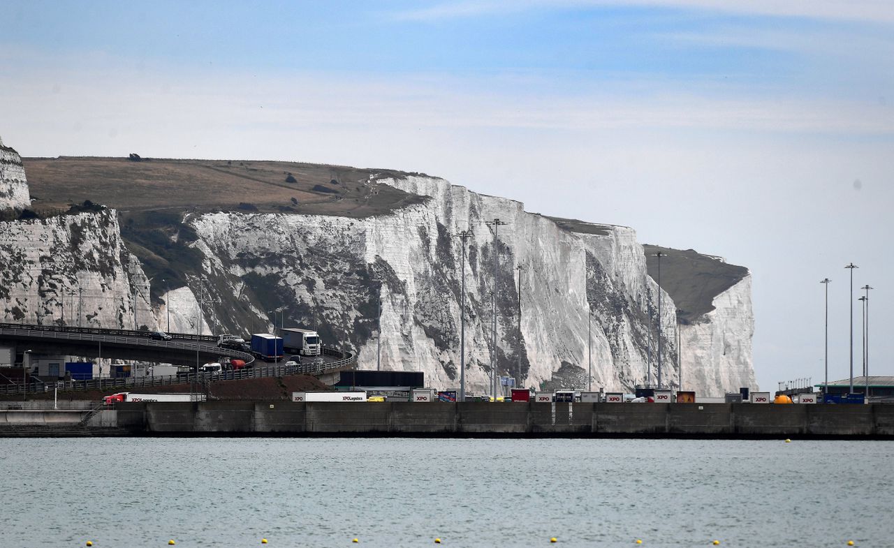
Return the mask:
<svg viewBox="0 0 894 548">
<path fill-rule="evenodd" d="M 751 339 L 751 275 L 713 299 L 714 309 L 680 329 L 683 385 L 708 396 L 757 388 Z M 693 387 L 693 388 L 690 388 Z"/>
</svg>

